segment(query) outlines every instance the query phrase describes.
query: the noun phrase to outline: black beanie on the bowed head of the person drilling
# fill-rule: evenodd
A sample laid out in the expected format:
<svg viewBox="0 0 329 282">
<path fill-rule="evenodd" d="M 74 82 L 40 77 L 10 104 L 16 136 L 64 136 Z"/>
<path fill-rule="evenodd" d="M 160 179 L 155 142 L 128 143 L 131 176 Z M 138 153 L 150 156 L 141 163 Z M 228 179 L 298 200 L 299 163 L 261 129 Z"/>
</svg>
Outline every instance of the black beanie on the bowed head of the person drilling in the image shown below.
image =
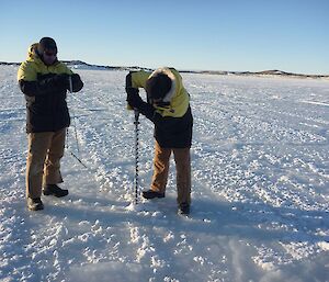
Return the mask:
<svg viewBox="0 0 329 282">
<path fill-rule="evenodd" d="M 171 79 L 164 74 L 158 74 L 147 81 L 147 91 L 151 99 L 164 98 L 171 89 Z"/>
</svg>

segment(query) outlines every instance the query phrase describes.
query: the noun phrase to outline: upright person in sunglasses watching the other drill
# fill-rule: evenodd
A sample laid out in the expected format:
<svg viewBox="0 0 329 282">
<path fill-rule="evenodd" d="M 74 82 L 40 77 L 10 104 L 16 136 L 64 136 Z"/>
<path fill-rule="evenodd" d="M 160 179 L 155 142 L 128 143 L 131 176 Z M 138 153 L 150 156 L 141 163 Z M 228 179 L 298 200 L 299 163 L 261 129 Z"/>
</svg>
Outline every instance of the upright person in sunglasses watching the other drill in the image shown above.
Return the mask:
<svg viewBox="0 0 329 282">
<path fill-rule="evenodd" d="M 31 211 L 43 210 L 44 195 L 65 196 L 60 158 L 64 155 L 66 128 L 70 124 L 66 102 L 70 81 L 73 92 L 82 89 L 80 76 L 57 59 L 57 45 L 43 37 L 31 45 L 27 60 L 18 71 L 19 86 L 26 100 L 26 199 Z"/>
</svg>

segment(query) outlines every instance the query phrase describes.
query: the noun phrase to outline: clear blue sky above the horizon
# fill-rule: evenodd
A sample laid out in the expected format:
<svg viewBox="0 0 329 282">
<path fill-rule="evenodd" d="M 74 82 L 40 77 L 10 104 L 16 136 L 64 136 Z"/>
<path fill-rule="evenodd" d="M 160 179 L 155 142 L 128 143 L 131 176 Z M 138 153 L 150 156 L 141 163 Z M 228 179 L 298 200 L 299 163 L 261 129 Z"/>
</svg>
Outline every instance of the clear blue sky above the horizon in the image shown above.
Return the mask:
<svg viewBox="0 0 329 282">
<path fill-rule="evenodd" d="M 59 59 L 329 75 L 328 0 L 0 1 L 0 60 L 43 36 Z"/>
</svg>

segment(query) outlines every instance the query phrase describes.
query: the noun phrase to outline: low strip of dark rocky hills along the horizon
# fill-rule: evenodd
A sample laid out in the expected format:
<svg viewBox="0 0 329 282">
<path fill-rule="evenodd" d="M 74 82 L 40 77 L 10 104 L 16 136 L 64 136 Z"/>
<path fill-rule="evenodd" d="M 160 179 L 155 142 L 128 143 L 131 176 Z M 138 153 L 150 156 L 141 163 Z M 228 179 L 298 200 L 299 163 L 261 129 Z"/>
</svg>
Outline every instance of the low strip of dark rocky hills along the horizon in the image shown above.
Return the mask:
<svg viewBox="0 0 329 282">
<path fill-rule="evenodd" d="M 152 71 L 151 68 L 132 66 L 101 66 L 101 65 L 91 65 L 87 64 L 82 60 L 63 60 L 67 66 L 75 69 L 98 69 L 98 70 L 146 70 Z M 20 63 L 9 63 L 9 61 L 0 61 L 0 65 L 4 66 L 19 66 Z M 262 71 L 227 71 L 227 70 L 180 70 L 180 72 L 184 74 L 204 74 L 204 75 L 222 75 L 222 76 L 259 76 L 259 77 L 296 77 L 296 78 L 326 78 L 329 79 L 329 75 L 304 75 L 304 74 L 293 74 L 286 72 L 283 70 L 272 69 L 272 70 L 262 70 Z"/>
</svg>

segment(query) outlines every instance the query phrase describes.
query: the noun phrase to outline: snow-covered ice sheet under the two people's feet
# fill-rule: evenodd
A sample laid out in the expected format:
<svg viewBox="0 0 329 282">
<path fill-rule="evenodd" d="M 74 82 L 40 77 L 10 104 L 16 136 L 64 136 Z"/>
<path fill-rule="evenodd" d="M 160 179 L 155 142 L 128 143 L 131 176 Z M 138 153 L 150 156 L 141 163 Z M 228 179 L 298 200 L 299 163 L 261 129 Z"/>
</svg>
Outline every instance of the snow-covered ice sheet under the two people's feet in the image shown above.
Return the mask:
<svg viewBox="0 0 329 282">
<path fill-rule="evenodd" d="M 329 82 L 183 74 L 194 114 L 190 217 L 131 205 L 134 114 L 125 71 L 77 70 L 64 199 L 25 205 L 25 103 L 0 67 L 0 281 L 329 281 Z M 141 93 L 143 94 L 143 93 Z M 144 94 L 143 94 L 144 95 Z M 152 124 L 140 117 L 140 183 Z"/>
</svg>

